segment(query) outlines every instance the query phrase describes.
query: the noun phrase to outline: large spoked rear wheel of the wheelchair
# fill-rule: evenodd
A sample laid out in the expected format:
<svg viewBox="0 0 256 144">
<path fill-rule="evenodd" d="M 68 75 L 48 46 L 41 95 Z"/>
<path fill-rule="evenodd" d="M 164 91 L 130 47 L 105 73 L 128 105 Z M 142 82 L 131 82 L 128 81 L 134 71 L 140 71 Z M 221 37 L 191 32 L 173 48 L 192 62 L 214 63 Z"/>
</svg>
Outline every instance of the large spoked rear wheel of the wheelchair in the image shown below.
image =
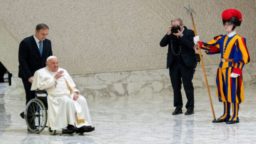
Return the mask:
<svg viewBox="0 0 256 144">
<path fill-rule="evenodd" d="M 47 111 L 42 100 L 33 98 L 28 102 L 24 113 L 28 130 L 39 133 L 44 130 L 47 121 Z"/>
</svg>

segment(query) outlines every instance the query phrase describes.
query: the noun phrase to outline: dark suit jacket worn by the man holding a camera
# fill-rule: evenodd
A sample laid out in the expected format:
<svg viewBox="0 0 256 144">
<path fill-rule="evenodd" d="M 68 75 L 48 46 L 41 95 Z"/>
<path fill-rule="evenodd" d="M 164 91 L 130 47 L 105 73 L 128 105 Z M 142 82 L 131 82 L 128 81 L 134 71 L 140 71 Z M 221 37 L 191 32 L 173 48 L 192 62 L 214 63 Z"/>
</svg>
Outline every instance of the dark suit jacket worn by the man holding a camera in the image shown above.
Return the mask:
<svg viewBox="0 0 256 144">
<path fill-rule="evenodd" d="M 184 26 L 184 31 L 182 32 L 183 36 L 177 38 L 174 34 L 166 34 L 164 38 L 162 38 L 160 42 L 160 46 L 164 47 L 168 44 L 168 54 L 167 54 L 167 63 L 166 68 L 169 68 L 172 64 L 172 61 L 174 59 L 174 54 L 172 52 L 171 44 L 173 48 L 177 48 L 178 41 L 181 42 L 181 51 L 180 55 L 182 57 L 182 60 L 187 66 L 195 66 L 196 61 L 194 60 L 194 41 L 193 38 L 195 36 L 193 30 L 188 30 L 186 26 Z"/>
</svg>

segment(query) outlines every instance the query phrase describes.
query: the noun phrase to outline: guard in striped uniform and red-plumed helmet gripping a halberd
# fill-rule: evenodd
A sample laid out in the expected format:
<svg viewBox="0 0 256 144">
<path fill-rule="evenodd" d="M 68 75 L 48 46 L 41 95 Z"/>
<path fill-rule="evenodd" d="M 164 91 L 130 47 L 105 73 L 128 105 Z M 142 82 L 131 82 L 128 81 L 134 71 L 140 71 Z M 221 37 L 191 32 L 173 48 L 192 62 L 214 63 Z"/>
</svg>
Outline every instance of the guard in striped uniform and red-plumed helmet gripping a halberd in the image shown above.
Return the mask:
<svg viewBox="0 0 256 144">
<path fill-rule="evenodd" d="M 244 102 L 244 86 L 242 69 L 250 62 L 250 54 L 246 47 L 246 39 L 236 34 L 236 28 L 242 22 L 242 14 L 236 9 L 222 12 L 223 26 L 226 35 L 216 36 L 210 42 L 200 42 L 199 36 L 194 37 L 194 43 L 199 42 L 200 48 L 206 54 L 220 53 L 220 63 L 216 75 L 216 94 L 223 103 L 224 113 L 212 122 L 239 122 L 238 111 Z M 232 106 L 233 112 L 230 114 Z"/>
</svg>

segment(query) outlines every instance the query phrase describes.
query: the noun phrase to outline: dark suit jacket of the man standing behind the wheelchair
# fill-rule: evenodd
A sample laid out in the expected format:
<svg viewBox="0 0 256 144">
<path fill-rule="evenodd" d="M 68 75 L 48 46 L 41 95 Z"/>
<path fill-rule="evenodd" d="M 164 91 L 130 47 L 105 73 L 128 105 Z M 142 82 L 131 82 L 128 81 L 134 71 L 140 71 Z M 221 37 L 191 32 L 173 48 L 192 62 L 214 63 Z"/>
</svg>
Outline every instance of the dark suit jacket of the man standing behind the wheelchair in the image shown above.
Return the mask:
<svg viewBox="0 0 256 144">
<path fill-rule="evenodd" d="M 24 38 L 20 42 L 19 46 L 19 74 L 22 79 L 28 79 L 34 76 L 36 70 L 44 68 L 45 62 L 49 56 L 52 56 L 52 44 L 51 41 L 45 39 L 43 41 L 42 58 L 36 41 L 33 36 Z"/>
</svg>

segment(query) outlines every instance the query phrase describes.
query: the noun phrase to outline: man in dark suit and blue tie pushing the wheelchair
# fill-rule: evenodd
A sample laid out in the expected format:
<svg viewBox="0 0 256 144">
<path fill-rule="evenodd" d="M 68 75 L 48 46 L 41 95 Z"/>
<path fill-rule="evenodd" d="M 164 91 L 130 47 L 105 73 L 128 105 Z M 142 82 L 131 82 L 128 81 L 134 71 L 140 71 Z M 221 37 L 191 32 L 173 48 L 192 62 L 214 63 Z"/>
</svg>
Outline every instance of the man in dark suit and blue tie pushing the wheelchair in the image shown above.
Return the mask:
<svg viewBox="0 0 256 144">
<path fill-rule="evenodd" d="M 26 104 L 35 98 L 35 91 L 31 91 L 33 76 L 36 70 L 44 68 L 49 56 L 52 56 L 51 41 L 46 39 L 49 28 L 46 24 L 38 24 L 33 36 L 24 38 L 19 46 L 19 74 L 26 92 Z M 20 114 L 24 118 L 24 112 Z"/>
</svg>

